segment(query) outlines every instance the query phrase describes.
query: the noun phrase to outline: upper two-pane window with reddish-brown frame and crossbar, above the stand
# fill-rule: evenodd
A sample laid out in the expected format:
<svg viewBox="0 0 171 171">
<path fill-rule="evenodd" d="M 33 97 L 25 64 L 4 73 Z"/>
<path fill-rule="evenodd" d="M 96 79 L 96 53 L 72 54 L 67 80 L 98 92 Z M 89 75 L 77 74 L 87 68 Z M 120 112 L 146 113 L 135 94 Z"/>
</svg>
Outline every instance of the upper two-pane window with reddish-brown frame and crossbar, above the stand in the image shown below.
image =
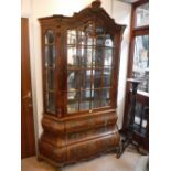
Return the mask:
<svg viewBox="0 0 171 171">
<path fill-rule="evenodd" d="M 131 47 L 128 76 L 142 81 L 138 90 L 149 90 L 149 3 L 140 1 L 132 7 Z"/>
</svg>

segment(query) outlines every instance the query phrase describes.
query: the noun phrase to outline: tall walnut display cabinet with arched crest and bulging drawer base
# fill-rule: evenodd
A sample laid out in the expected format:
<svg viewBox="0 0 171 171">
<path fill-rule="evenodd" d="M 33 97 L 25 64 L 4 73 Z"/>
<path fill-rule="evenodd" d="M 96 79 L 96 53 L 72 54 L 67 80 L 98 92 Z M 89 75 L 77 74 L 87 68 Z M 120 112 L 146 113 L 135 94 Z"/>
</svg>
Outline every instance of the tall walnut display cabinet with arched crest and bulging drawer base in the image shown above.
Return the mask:
<svg viewBox="0 0 171 171">
<path fill-rule="evenodd" d="M 125 25 L 100 1 L 73 17 L 39 21 L 44 99 L 39 159 L 62 167 L 114 150 L 120 140 L 116 109 Z"/>
</svg>

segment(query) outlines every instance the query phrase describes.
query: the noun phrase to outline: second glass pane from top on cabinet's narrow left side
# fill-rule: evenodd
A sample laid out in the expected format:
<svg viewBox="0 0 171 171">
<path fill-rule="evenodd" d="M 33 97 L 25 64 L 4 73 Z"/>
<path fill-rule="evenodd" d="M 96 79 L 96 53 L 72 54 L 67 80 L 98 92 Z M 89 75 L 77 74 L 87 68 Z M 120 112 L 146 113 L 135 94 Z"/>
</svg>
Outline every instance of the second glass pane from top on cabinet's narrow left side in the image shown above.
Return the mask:
<svg viewBox="0 0 171 171">
<path fill-rule="evenodd" d="M 45 66 L 53 67 L 55 65 L 55 45 L 45 46 Z"/>
</svg>

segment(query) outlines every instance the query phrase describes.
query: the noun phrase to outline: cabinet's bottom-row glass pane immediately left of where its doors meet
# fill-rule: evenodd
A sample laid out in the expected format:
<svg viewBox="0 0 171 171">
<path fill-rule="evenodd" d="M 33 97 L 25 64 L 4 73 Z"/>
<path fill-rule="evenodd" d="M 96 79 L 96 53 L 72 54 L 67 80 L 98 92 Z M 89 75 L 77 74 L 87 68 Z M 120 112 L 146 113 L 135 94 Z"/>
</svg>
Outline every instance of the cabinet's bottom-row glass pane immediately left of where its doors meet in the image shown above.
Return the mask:
<svg viewBox="0 0 171 171">
<path fill-rule="evenodd" d="M 90 90 L 81 92 L 79 110 L 89 110 Z"/>
</svg>

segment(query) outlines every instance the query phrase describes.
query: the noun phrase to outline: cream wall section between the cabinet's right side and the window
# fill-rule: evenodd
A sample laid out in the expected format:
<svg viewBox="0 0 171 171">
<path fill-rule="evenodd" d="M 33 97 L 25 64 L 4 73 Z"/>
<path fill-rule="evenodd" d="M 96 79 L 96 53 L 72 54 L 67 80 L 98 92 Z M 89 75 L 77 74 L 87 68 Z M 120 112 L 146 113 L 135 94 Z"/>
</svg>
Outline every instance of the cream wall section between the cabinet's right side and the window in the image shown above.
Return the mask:
<svg viewBox="0 0 171 171">
<path fill-rule="evenodd" d="M 127 28 L 124 32 L 121 42 L 121 54 L 120 54 L 120 71 L 119 71 L 119 85 L 118 85 L 118 127 L 121 129 L 124 119 L 125 108 L 125 95 L 126 95 L 126 76 L 127 76 L 127 62 L 129 52 L 129 33 L 130 33 L 130 18 L 131 18 L 131 6 L 111 0 L 113 12 L 111 17 L 117 23 L 126 24 Z"/>
</svg>

